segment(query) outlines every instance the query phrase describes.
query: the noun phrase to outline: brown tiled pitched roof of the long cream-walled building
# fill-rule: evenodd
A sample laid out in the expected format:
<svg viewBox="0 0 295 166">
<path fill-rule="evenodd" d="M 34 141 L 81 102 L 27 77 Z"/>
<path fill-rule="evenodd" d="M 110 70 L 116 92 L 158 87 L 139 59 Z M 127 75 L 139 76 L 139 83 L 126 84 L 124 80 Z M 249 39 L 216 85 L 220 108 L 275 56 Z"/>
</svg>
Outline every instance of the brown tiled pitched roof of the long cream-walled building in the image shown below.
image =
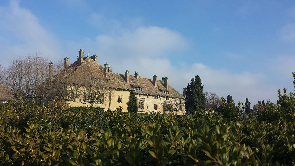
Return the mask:
<svg viewBox="0 0 295 166">
<path fill-rule="evenodd" d="M 77 61 L 73 64 L 75 63 L 77 63 Z M 158 87 L 155 87 L 153 85 L 152 79 L 139 77 L 137 80 L 135 76 L 129 75 L 129 83 L 127 83 L 125 81 L 125 75 L 123 74 L 112 72 L 107 72 L 107 74 L 105 74 L 104 67 L 97 64 L 88 56 L 84 58 L 82 64 L 78 66 L 76 71 L 74 71 L 74 73 L 70 76 L 70 78 L 68 79 L 68 83 L 83 84 L 87 86 L 87 84 L 91 82 L 90 77 L 107 79 L 108 82 L 104 83 L 104 86 L 109 88 L 134 90 L 134 87 L 141 87 L 141 91 L 135 91 L 137 94 L 185 98 L 170 85 L 168 85 L 168 88 L 165 88 L 164 82 L 160 80 L 157 80 Z M 161 90 L 169 91 L 169 94 L 163 94 Z"/>
</svg>

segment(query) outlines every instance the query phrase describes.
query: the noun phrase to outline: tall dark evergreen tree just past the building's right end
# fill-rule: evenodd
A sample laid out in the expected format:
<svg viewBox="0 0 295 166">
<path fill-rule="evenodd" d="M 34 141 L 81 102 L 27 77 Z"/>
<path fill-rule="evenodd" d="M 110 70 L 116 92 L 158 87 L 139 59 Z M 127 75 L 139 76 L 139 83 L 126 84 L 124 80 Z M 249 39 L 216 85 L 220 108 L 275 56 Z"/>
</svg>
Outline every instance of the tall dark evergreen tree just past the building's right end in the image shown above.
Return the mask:
<svg viewBox="0 0 295 166">
<path fill-rule="evenodd" d="M 191 78 L 186 91 L 186 112 L 194 113 L 205 109 L 205 94 L 203 93 L 203 83 L 198 75 Z"/>
</svg>

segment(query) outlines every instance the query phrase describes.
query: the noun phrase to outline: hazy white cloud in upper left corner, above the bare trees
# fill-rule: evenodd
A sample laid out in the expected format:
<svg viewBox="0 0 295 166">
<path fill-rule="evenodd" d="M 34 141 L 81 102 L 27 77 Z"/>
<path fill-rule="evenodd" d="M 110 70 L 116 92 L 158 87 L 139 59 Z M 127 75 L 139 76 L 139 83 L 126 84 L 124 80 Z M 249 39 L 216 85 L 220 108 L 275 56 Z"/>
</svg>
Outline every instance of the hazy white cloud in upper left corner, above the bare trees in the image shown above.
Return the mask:
<svg viewBox="0 0 295 166">
<path fill-rule="evenodd" d="M 40 23 L 37 17 L 19 6 L 19 1 L 10 1 L 9 6 L 0 6 L 0 56 L 7 63 L 11 57 L 41 52 L 57 57 L 61 49 L 53 35 Z"/>
</svg>

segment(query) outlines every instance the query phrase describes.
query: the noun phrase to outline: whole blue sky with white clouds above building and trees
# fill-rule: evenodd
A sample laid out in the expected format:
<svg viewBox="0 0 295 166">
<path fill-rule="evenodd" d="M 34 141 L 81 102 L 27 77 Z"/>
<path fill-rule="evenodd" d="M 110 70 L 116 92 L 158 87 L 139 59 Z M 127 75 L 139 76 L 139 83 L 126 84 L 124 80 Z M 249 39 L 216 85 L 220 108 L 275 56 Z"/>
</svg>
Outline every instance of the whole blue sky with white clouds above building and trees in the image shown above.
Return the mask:
<svg viewBox="0 0 295 166">
<path fill-rule="evenodd" d="M 74 61 L 82 48 L 179 92 L 196 74 L 236 102 L 294 90 L 294 1 L 0 1 L 0 21 L 4 66 L 34 52 Z"/>
</svg>

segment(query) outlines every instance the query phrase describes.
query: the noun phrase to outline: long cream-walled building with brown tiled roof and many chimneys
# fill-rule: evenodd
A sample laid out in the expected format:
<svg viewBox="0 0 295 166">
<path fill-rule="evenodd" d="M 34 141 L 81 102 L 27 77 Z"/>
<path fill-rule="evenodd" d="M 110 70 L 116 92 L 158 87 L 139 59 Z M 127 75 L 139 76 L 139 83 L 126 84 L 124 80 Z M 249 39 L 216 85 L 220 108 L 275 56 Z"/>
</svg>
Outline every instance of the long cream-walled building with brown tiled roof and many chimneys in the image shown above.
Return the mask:
<svg viewBox="0 0 295 166">
<path fill-rule="evenodd" d="M 185 102 L 185 97 L 169 85 L 169 79 L 165 77 L 163 80 L 158 80 L 154 75 L 152 78 L 140 77 L 139 73 L 135 72 L 131 75 L 128 70 L 124 74 L 114 73 L 109 64 L 104 64 L 104 67 L 97 63 L 97 56 L 84 57 L 84 51 L 81 49 L 78 56 L 78 61 L 69 65 L 68 57 L 64 58 L 64 70 L 74 68 L 73 73 L 68 78 L 68 87 L 73 85 L 81 87 L 85 93 L 89 93 L 89 82 L 100 82 L 104 89 L 107 89 L 108 95 L 104 97 L 102 103 L 94 104 L 94 106 L 102 107 L 105 110 L 116 110 L 119 106 L 123 107 L 123 111 L 127 111 L 127 102 L 132 90 L 137 96 L 137 105 L 139 113 L 148 112 L 166 112 L 166 104 L 173 100 Z M 52 76 L 52 63 L 50 63 L 49 79 L 54 80 Z M 73 67 L 74 66 L 74 67 Z M 82 91 L 83 91 L 82 90 Z M 185 92 L 185 89 L 184 89 Z M 83 94 L 78 98 L 83 99 Z M 83 100 L 82 100 L 83 102 Z M 71 106 L 86 106 L 81 101 L 69 101 Z M 184 114 L 185 107 L 183 106 L 177 114 Z"/>
</svg>

